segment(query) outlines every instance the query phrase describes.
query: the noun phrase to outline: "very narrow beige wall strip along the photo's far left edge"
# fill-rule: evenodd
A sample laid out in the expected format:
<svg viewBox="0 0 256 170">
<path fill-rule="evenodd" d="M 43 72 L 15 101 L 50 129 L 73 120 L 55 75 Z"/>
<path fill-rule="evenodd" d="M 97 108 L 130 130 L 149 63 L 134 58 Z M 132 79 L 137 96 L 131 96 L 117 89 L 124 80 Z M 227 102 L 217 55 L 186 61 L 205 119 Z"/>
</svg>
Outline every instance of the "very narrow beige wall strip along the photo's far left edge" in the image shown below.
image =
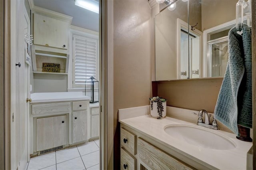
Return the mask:
<svg viewBox="0 0 256 170">
<path fill-rule="evenodd" d="M 4 1 L 0 0 L 0 169 L 4 169 Z"/>
</svg>

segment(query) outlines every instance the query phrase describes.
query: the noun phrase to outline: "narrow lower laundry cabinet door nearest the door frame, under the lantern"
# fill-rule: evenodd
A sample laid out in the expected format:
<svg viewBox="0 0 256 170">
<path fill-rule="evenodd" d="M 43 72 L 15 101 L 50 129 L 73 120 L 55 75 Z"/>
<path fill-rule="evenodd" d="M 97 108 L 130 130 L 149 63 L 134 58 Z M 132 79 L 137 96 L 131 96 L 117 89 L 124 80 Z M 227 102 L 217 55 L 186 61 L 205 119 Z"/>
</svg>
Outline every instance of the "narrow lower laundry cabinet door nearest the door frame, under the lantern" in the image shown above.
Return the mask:
<svg viewBox="0 0 256 170">
<path fill-rule="evenodd" d="M 100 134 L 100 114 L 99 107 L 90 108 L 90 138 L 97 138 Z"/>
</svg>

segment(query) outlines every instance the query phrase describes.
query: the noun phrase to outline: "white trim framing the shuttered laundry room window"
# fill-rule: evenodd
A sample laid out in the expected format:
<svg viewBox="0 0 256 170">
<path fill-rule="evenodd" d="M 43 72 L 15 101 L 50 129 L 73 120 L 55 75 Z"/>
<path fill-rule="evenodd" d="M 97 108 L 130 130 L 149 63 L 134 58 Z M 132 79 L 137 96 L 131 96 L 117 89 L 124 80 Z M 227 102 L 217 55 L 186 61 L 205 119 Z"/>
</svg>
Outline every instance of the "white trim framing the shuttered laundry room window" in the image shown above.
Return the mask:
<svg viewBox="0 0 256 170">
<path fill-rule="evenodd" d="M 97 40 L 98 43 L 98 58 L 97 58 L 97 77 L 99 77 L 99 33 L 92 31 L 92 30 L 87 30 L 84 28 L 79 28 L 76 26 L 70 26 L 70 57 L 69 57 L 69 64 L 68 64 L 68 91 L 85 91 L 84 88 L 74 88 L 73 87 L 73 35 L 78 35 L 78 36 L 85 36 L 88 38 L 93 38 Z M 97 78 L 96 78 L 97 79 Z M 87 90 L 86 90 L 87 91 Z"/>
</svg>

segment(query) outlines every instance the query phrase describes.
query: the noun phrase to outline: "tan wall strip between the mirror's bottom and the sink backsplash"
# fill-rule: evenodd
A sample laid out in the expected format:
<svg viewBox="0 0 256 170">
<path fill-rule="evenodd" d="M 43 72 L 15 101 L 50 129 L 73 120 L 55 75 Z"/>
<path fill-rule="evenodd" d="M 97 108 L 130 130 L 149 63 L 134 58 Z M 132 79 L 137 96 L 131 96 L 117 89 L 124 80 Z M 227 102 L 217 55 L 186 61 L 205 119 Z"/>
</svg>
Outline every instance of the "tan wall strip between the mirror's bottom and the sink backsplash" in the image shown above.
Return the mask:
<svg viewBox="0 0 256 170">
<path fill-rule="evenodd" d="M 213 113 L 222 78 L 190 79 L 158 82 L 158 95 L 168 100 L 167 105 Z"/>
</svg>

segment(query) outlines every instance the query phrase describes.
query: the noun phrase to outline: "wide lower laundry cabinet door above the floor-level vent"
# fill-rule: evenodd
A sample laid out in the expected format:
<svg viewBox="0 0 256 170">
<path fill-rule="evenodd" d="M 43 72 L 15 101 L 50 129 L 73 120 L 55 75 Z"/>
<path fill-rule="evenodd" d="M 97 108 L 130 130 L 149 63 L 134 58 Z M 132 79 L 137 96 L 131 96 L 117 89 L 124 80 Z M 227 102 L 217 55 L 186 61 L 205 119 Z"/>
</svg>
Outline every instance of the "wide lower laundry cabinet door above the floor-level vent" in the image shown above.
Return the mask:
<svg viewBox="0 0 256 170">
<path fill-rule="evenodd" d="M 67 144 L 66 115 L 36 119 L 36 150 Z"/>
</svg>

